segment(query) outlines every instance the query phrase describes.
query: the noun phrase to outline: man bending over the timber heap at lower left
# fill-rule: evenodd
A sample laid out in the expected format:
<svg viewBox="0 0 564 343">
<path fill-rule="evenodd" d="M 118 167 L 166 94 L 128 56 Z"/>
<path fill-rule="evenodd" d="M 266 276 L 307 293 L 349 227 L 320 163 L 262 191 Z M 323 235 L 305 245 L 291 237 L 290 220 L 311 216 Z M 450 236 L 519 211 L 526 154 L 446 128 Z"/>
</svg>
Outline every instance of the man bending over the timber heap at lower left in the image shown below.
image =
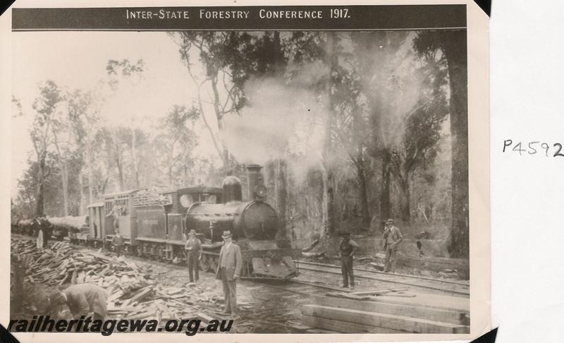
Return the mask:
<svg viewBox="0 0 564 343">
<path fill-rule="evenodd" d="M 92 320 L 104 320 L 107 314 L 108 294 L 95 284 L 73 284 L 63 291 L 55 291 L 49 297 L 49 308 L 55 315 L 66 305 L 73 318 L 87 317 L 94 313 Z"/>
</svg>

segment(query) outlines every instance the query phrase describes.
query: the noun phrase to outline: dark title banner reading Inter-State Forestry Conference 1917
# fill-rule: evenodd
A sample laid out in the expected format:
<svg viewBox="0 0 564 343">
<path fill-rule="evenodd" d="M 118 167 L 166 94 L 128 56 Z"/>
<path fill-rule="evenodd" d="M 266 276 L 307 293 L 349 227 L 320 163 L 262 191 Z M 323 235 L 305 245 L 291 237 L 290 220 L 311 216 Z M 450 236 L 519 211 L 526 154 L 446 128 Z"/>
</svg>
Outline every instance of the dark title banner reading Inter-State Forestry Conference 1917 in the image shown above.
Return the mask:
<svg viewBox="0 0 564 343">
<path fill-rule="evenodd" d="M 465 29 L 465 5 L 13 8 L 12 30 Z"/>
</svg>

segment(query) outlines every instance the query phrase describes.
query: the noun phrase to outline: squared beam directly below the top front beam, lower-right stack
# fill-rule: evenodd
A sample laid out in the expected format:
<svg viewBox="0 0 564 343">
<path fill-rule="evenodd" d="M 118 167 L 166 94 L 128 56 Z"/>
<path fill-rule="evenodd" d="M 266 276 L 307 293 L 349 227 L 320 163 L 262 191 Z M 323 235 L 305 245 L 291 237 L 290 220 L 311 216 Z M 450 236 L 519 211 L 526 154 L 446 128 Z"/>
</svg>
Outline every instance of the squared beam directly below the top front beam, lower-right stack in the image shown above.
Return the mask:
<svg viewBox="0 0 564 343">
<path fill-rule="evenodd" d="M 436 322 L 403 315 L 358 311 L 349 308 L 305 305 L 302 307 L 302 314 L 414 333 L 470 333 L 470 327 L 465 325 Z"/>
</svg>

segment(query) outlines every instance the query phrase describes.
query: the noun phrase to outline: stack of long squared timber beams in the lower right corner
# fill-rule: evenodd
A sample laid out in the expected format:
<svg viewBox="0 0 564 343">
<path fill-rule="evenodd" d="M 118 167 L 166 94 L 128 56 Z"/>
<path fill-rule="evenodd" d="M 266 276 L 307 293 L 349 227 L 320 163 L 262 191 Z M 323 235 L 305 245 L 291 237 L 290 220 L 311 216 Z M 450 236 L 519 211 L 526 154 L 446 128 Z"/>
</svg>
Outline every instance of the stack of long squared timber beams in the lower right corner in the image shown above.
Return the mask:
<svg viewBox="0 0 564 343">
<path fill-rule="evenodd" d="M 302 308 L 302 324 L 346 333 L 470 333 L 470 300 L 404 289 L 328 293 Z"/>
</svg>

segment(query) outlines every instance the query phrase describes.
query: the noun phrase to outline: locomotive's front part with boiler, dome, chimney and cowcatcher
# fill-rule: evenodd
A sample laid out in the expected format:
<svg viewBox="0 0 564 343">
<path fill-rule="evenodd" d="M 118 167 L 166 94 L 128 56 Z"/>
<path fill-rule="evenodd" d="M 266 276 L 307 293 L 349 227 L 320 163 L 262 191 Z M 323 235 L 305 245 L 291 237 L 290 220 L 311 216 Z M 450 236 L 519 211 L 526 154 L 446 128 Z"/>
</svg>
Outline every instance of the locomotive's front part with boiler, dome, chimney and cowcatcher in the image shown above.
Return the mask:
<svg viewBox="0 0 564 343">
<path fill-rule="evenodd" d="M 216 270 L 223 231 L 231 231 L 243 255 L 243 277 L 288 279 L 298 275 L 293 262 L 301 251 L 283 234 L 278 215 L 265 202 L 266 187 L 258 165 L 247 166 L 247 199 L 243 201 L 240 179 L 223 180 L 222 203 L 193 203 L 185 216 L 185 228 L 204 236 L 202 270 Z"/>
</svg>

